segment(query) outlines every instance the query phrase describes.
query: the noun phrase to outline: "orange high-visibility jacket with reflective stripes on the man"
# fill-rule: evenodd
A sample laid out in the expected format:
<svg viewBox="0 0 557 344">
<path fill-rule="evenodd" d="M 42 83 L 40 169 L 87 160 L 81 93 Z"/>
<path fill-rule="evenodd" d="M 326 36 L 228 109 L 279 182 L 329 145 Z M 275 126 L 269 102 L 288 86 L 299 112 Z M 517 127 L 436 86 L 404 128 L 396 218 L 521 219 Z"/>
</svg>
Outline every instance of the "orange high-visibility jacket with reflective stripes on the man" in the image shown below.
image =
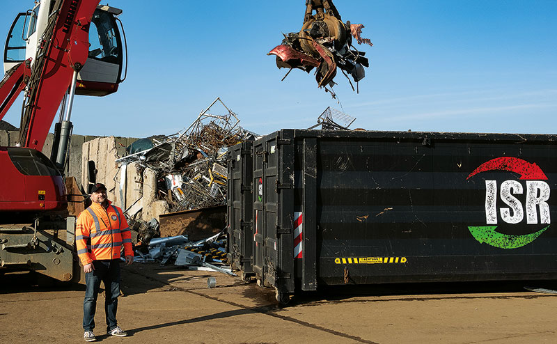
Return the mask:
<svg viewBox="0 0 557 344">
<path fill-rule="evenodd" d="M 107 209 L 93 203 L 77 217 L 75 245 L 83 265 L 93 260 L 120 259 L 122 245 L 125 256 L 134 256 L 132 233 L 124 214 L 108 202 Z"/>
</svg>

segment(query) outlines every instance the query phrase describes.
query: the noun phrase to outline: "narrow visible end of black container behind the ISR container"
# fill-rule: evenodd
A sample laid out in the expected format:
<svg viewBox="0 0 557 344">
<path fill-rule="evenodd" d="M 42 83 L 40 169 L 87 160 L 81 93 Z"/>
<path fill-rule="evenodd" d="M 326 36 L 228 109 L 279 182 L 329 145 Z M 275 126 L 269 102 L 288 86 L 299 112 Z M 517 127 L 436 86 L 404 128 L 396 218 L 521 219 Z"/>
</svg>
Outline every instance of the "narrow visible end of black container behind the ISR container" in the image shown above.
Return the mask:
<svg viewBox="0 0 557 344">
<path fill-rule="evenodd" d="M 251 143 L 246 141 L 228 148 L 228 261 L 232 267 L 240 269 L 245 280 L 253 276 Z"/>
</svg>

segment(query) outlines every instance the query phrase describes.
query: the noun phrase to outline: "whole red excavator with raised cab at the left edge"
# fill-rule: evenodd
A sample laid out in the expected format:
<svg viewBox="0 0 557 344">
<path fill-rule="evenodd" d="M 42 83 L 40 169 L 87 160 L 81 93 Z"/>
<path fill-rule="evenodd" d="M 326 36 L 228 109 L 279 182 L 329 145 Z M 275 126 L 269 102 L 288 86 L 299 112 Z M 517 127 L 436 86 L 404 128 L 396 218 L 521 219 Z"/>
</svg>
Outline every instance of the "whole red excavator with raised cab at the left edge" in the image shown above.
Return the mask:
<svg viewBox="0 0 557 344">
<path fill-rule="evenodd" d="M 0 120 L 22 91 L 24 103 L 17 144 L 0 147 L 0 272 L 31 269 L 60 281 L 79 281 L 75 217 L 56 212 L 65 210 L 68 201 L 61 171 L 72 132 L 73 98 L 116 92 L 127 59 L 117 18 L 122 11 L 99 2 L 35 1 L 10 28 Z M 41 150 L 58 109 L 49 159 Z"/>
</svg>

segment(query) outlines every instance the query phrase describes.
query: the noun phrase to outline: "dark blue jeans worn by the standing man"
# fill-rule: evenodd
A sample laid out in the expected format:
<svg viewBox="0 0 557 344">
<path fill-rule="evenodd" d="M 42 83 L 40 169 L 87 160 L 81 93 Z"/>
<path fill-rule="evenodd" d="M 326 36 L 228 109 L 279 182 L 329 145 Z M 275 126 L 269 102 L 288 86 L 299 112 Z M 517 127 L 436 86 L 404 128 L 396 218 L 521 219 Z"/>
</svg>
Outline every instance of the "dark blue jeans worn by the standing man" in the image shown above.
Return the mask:
<svg viewBox="0 0 557 344">
<path fill-rule="evenodd" d="M 85 274 L 85 299 L 83 301 L 83 328 L 93 331 L 100 281 L 104 283 L 104 313 L 107 331 L 116 327 L 118 295 L 120 295 L 120 260 L 93 260 L 93 272 Z"/>
</svg>

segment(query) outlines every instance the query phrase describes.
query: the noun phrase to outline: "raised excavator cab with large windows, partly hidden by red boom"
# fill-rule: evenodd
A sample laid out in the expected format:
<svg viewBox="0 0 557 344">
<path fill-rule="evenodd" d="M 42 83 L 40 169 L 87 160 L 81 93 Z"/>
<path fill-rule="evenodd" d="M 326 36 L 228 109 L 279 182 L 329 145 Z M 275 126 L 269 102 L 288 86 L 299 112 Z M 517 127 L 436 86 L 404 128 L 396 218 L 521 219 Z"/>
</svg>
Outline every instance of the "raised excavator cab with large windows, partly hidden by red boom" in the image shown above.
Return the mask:
<svg viewBox="0 0 557 344">
<path fill-rule="evenodd" d="M 42 0 L 32 10 L 17 15 L 4 47 L 5 72 L 27 58 L 36 60 L 38 38 L 45 31 L 51 3 L 52 0 Z M 120 28 L 124 32 L 122 22 L 117 18 L 121 13 L 118 8 L 97 6 L 89 26 L 88 58 L 77 76 L 75 94 L 109 95 L 118 91 L 118 84 L 124 81 L 122 74 L 127 69 L 127 50 L 125 34 L 120 34 Z"/>
</svg>

